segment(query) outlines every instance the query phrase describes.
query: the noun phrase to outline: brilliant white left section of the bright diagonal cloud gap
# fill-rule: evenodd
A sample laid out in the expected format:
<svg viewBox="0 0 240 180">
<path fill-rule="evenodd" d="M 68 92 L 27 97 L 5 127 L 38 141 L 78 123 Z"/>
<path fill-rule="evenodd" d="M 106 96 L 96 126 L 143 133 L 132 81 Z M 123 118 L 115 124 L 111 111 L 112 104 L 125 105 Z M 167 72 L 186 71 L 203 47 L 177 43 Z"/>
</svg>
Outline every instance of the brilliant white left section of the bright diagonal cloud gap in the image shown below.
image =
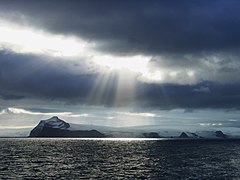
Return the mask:
<svg viewBox="0 0 240 180">
<path fill-rule="evenodd" d="M 16 53 L 32 53 L 48 56 L 77 56 L 86 42 L 73 37 L 54 35 L 42 30 L 26 28 L 0 20 L 0 48 Z"/>
</svg>

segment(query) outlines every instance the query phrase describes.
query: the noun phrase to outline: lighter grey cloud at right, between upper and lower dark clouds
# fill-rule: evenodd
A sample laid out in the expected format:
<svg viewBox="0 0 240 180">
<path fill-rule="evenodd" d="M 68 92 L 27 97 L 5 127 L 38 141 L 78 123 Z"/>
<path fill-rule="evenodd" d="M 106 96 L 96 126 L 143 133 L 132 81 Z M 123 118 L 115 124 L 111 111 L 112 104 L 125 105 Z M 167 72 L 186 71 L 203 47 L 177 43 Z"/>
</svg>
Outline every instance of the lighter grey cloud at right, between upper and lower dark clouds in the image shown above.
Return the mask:
<svg viewBox="0 0 240 180">
<path fill-rule="evenodd" d="M 240 82 L 239 51 L 199 54 L 165 54 L 153 57 L 148 66 L 152 72 L 164 72 L 164 82 L 196 84 L 212 81 L 222 84 Z M 189 72 L 193 76 L 189 76 Z M 175 73 L 175 76 L 171 76 Z"/>
</svg>

